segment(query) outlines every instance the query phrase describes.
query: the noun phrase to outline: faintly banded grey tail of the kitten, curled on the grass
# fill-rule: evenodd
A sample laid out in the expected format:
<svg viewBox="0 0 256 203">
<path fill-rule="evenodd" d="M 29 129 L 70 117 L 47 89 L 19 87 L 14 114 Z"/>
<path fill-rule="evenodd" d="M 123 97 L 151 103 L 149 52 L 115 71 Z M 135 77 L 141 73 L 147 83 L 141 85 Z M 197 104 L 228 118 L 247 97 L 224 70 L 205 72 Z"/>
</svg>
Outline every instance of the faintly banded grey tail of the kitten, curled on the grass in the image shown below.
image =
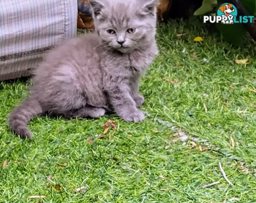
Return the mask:
<svg viewBox="0 0 256 203">
<path fill-rule="evenodd" d="M 23 139 L 31 139 L 32 133 L 28 129 L 28 122 L 40 114 L 42 114 L 42 107 L 37 99 L 28 98 L 10 114 L 9 122 L 12 131 Z"/>
</svg>

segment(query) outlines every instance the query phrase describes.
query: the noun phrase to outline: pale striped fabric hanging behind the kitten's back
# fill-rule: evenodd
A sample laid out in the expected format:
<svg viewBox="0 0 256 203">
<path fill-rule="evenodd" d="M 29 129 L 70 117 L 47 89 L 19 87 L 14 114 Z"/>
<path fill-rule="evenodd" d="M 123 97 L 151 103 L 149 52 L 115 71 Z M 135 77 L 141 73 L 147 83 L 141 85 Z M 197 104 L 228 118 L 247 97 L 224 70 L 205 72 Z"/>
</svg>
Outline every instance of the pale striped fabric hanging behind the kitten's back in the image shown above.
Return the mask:
<svg viewBox="0 0 256 203">
<path fill-rule="evenodd" d="M 76 36 L 77 0 L 0 0 L 0 80 L 28 76 Z"/>
</svg>

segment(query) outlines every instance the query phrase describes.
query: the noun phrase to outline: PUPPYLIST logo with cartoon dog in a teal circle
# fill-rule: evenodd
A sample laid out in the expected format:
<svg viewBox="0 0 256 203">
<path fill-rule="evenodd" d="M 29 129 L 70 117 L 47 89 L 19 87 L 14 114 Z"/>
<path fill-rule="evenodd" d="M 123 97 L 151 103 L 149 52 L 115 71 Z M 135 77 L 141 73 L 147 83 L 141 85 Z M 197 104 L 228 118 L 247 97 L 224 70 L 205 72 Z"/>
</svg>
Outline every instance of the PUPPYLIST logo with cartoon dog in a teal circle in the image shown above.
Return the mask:
<svg viewBox="0 0 256 203">
<path fill-rule="evenodd" d="M 237 16 L 237 9 L 231 3 L 223 3 L 219 6 L 216 16 L 203 16 L 203 22 L 233 24 L 253 23 L 254 16 Z"/>
</svg>

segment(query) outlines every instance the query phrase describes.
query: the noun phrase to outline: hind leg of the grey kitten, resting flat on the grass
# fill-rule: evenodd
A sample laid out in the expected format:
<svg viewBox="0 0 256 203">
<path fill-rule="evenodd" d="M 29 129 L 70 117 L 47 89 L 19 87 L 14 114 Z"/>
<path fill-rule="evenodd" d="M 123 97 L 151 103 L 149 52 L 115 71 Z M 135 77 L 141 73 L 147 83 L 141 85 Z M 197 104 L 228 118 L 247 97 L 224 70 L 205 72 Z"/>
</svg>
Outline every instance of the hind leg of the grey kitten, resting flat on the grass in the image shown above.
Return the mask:
<svg viewBox="0 0 256 203">
<path fill-rule="evenodd" d="M 69 112 L 65 113 L 65 117 L 74 118 L 74 117 L 90 117 L 90 118 L 98 118 L 104 116 L 106 110 L 100 107 L 93 107 L 93 106 L 85 106 L 80 109 L 70 110 Z"/>
</svg>

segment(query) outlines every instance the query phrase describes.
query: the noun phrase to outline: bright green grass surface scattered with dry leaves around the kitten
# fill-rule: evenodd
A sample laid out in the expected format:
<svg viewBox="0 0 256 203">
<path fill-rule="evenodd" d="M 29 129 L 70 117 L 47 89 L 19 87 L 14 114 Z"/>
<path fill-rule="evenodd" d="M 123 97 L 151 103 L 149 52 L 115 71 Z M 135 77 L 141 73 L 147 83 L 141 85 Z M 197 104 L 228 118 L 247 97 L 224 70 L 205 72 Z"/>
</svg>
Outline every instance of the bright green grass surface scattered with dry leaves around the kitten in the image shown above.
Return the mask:
<svg viewBox="0 0 256 203">
<path fill-rule="evenodd" d="M 187 34 L 177 38 L 179 33 Z M 195 43 L 196 36 L 204 41 Z M 0 167 L 0 203 L 256 202 L 256 44 L 245 38 L 231 46 L 200 19 L 161 25 L 157 38 L 160 53 L 141 83 L 141 109 L 149 112 L 142 123 L 114 115 L 35 118 L 29 124 L 34 140 L 20 140 L 6 117 L 28 95 L 30 82 L 0 82 L 0 163 L 8 162 Z M 238 65 L 236 58 L 249 58 L 250 64 Z M 118 130 L 97 139 L 108 119 Z M 173 142 L 175 132 L 162 121 L 189 139 Z M 197 146 L 189 149 L 195 139 Z M 200 152 L 198 146 L 208 144 L 212 150 Z M 202 188 L 215 181 L 220 183 Z"/>
</svg>

